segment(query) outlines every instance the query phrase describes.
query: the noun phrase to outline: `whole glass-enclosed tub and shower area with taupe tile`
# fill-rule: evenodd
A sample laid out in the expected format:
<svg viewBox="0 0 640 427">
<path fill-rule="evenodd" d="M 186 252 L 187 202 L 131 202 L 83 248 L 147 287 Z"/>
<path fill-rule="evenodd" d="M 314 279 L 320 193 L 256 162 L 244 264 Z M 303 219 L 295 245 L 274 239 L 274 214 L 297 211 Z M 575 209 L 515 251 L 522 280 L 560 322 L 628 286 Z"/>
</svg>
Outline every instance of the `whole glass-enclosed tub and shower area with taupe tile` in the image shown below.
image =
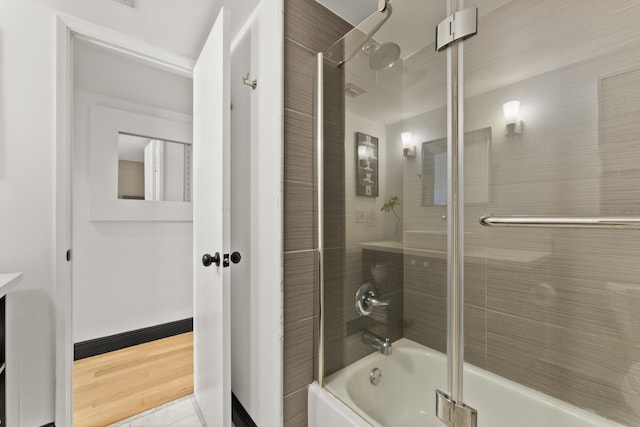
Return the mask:
<svg viewBox="0 0 640 427">
<path fill-rule="evenodd" d="M 603 48 L 637 4 L 476 2 L 456 80 L 434 37 L 447 4 L 389 4 L 331 46 L 285 32 L 291 51 L 306 48 L 325 157 L 309 248 L 322 315 L 307 374 L 320 387 L 298 383 L 285 408 L 306 392 L 310 425 L 435 426 L 440 389 L 453 402 L 464 391 L 478 425 L 515 425 L 514 414 L 523 426 L 638 425 L 638 34 Z M 457 117 L 452 86 L 464 94 Z M 464 137 L 459 187 L 447 185 L 451 126 Z M 435 371 L 408 356 L 433 350 Z M 396 388 L 385 390 L 385 369 Z M 357 416 L 332 418 L 336 400 Z"/>
</svg>

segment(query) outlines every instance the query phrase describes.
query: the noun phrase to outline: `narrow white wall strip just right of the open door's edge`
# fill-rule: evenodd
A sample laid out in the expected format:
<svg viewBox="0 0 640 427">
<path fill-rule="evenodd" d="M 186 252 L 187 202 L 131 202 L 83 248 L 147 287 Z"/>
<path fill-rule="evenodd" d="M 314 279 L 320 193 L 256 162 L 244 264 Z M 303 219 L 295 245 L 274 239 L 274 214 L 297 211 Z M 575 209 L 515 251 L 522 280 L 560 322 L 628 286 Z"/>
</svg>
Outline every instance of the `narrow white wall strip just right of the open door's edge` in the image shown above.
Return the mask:
<svg viewBox="0 0 640 427">
<path fill-rule="evenodd" d="M 252 289 L 251 264 L 251 180 L 253 145 L 257 140 L 255 98 L 257 93 L 243 84 L 240 76 L 259 74 L 252 45 L 255 43 L 258 22 L 234 40 L 231 52 L 231 250 L 238 251 L 243 259 L 231 268 L 231 390 L 250 415 L 255 413 L 257 355 L 255 331 L 258 319 L 256 290 Z M 262 82 L 261 82 L 262 83 Z M 252 120 L 253 118 L 253 120 Z M 254 205 L 255 206 L 255 205 Z"/>
</svg>

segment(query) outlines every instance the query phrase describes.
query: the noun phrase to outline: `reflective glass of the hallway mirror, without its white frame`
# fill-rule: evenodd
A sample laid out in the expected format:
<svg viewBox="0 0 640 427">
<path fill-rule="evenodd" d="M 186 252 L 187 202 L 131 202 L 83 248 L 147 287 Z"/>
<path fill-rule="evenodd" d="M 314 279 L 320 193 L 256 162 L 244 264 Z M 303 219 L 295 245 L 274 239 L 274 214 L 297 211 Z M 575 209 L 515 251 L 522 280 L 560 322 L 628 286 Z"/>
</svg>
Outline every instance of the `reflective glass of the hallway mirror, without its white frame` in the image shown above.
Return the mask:
<svg viewBox="0 0 640 427">
<path fill-rule="evenodd" d="M 119 132 L 118 199 L 191 201 L 191 145 Z"/>
</svg>

